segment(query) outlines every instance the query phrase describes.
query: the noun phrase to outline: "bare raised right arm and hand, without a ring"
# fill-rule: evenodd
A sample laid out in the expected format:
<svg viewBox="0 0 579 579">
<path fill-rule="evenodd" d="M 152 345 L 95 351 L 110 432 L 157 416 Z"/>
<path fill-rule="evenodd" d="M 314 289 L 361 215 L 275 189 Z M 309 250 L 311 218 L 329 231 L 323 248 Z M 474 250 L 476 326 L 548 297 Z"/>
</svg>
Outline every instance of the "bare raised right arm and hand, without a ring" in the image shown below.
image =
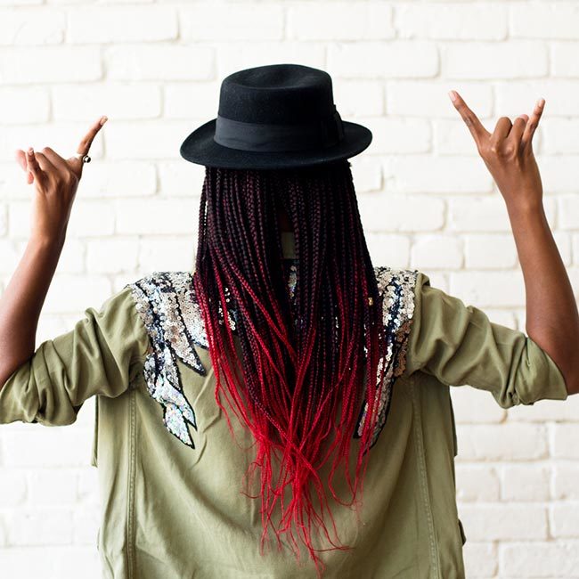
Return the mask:
<svg viewBox="0 0 579 579">
<path fill-rule="evenodd" d="M 514 122 L 508 117 L 499 118 L 491 134 L 460 94 L 451 91 L 450 96 L 507 205 L 525 280 L 526 334 L 557 363 L 569 395 L 577 394 L 579 314 L 545 216 L 541 175 L 532 147 L 544 99 L 536 103 L 530 117 L 520 115 Z"/>
</svg>

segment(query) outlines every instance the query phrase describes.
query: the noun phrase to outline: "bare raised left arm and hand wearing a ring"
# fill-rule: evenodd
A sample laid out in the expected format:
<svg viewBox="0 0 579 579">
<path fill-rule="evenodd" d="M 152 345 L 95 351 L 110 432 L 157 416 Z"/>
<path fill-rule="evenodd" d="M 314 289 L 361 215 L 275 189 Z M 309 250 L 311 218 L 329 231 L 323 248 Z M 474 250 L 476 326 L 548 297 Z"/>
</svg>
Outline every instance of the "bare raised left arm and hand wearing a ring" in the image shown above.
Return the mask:
<svg viewBox="0 0 579 579">
<path fill-rule="evenodd" d="M 103 119 L 103 120 L 102 120 Z M 78 145 L 86 155 L 106 117 L 94 122 Z M 16 151 L 28 183 L 35 183 L 29 242 L 0 298 L 0 388 L 36 351 L 38 318 L 66 237 L 83 161 L 63 159 L 50 147 Z"/>
</svg>

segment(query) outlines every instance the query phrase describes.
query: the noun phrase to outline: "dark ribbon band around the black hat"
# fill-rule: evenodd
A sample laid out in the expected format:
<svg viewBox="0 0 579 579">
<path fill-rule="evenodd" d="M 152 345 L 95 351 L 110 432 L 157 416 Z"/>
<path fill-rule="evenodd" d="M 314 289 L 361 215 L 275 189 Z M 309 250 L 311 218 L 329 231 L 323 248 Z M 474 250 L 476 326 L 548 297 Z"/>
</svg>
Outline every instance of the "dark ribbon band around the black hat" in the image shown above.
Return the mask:
<svg viewBox="0 0 579 579">
<path fill-rule="evenodd" d="M 302 151 L 330 147 L 344 138 L 344 126 L 338 110 L 317 122 L 269 125 L 244 123 L 217 115 L 213 140 L 241 151 Z"/>
</svg>

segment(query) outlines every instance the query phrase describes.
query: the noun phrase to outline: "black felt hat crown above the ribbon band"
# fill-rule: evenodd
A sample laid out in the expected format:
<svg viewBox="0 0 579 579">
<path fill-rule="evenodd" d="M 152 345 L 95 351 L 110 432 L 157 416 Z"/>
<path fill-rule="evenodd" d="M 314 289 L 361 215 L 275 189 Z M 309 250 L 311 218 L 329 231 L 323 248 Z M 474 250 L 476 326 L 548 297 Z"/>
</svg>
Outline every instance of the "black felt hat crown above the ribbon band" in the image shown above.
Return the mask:
<svg viewBox="0 0 579 579">
<path fill-rule="evenodd" d="M 303 64 L 269 64 L 225 77 L 217 114 L 246 123 L 285 124 L 327 117 L 335 110 L 327 72 Z"/>
</svg>

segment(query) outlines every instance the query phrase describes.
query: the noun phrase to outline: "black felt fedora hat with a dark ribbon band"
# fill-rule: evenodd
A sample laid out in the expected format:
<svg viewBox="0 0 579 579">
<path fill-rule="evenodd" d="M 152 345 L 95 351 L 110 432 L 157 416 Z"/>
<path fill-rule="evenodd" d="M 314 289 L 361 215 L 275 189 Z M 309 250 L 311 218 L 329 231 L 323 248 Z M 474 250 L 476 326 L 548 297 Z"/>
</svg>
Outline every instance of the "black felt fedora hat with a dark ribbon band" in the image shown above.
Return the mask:
<svg viewBox="0 0 579 579">
<path fill-rule="evenodd" d="M 354 157 L 371 140 L 370 129 L 340 118 L 327 72 L 269 64 L 225 77 L 217 117 L 188 135 L 179 152 L 207 167 L 308 167 Z"/>
</svg>

